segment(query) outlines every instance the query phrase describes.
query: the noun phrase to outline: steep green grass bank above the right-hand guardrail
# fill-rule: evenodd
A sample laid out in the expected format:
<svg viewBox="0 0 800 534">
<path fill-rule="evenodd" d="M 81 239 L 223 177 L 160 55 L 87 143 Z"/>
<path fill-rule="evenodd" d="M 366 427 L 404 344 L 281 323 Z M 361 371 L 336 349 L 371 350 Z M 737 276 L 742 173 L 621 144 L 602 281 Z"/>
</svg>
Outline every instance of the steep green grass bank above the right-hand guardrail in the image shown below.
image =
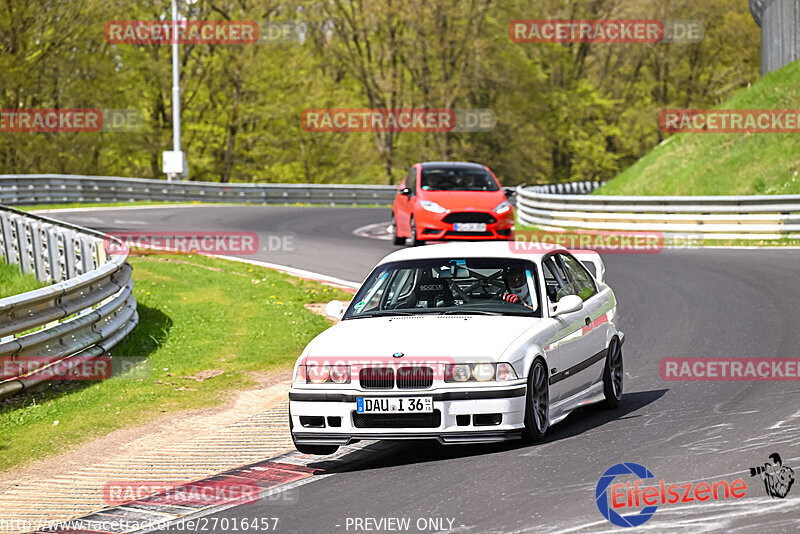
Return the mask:
<svg viewBox="0 0 800 534">
<path fill-rule="evenodd" d="M 766 75 L 718 108 L 800 109 L 800 61 Z M 798 175 L 800 134 L 682 133 L 594 194 L 798 194 Z"/>
</svg>

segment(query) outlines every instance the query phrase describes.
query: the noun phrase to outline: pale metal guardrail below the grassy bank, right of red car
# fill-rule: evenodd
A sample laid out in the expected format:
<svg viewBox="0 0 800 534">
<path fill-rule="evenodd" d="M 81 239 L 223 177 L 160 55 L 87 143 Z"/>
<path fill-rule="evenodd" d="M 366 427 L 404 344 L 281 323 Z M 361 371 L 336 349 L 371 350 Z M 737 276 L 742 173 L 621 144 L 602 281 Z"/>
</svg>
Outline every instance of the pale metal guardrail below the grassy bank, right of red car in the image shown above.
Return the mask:
<svg viewBox="0 0 800 534">
<path fill-rule="evenodd" d="M 576 196 L 528 187 L 517 190 L 517 216 L 522 224 L 555 231 L 659 232 L 697 239 L 800 237 L 800 195 Z"/>
</svg>

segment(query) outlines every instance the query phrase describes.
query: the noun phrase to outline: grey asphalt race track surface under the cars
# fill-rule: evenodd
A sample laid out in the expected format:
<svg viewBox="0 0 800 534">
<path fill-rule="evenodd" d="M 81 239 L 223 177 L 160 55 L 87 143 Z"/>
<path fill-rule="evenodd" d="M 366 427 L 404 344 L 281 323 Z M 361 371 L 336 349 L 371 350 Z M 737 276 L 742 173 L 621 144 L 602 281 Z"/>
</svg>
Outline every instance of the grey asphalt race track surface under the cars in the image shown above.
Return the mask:
<svg viewBox="0 0 800 534">
<path fill-rule="evenodd" d="M 105 231 L 254 231 L 262 245 L 269 235 L 290 234 L 292 250 L 253 257 L 353 281 L 395 249 L 353 235 L 388 221 L 386 209 L 203 206 L 51 216 Z M 618 409 L 579 410 L 538 445 L 399 443 L 289 487 L 291 498 L 210 519 L 279 518 L 275 531 L 285 533 L 800 530 L 800 481 L 785 499 L 773 499 L 748 473 L 778 452 L 800 476 L 798 382 L 666 382 L 659 375 L 664 357 L 800 356 L 800 251 L 673 250 L 604 260 L 627 335 Z M 641 527 L 617 528 L 598 511 L 595 486 L 619 462 L 641 464 L 667 484 L 742 478 L 747 495 L 664 504 Z M 410 523 L 356 523 L 366 518 Z"/>
</svg>

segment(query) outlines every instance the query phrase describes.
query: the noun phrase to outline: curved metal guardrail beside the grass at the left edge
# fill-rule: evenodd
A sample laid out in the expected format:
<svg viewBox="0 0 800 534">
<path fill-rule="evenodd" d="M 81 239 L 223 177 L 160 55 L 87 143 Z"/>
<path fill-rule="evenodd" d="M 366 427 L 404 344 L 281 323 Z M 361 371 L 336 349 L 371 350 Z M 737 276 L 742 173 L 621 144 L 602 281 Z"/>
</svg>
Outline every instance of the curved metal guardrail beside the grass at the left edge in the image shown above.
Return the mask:
<svg viewBox="0 0 800 534">
<path fill-rule="evenodd" d="M 0 207 L 0 254 L 52 285 L 0 298 L 0 398 L 45 380 L 47 367 L 100 356 L 136 326 L 127 253 L 108 257 L 100 232 Z M 39 369 L 17 376 L 5 369 Z M 15 365 L 21 364 L 21 365 Z"/>
</svg>

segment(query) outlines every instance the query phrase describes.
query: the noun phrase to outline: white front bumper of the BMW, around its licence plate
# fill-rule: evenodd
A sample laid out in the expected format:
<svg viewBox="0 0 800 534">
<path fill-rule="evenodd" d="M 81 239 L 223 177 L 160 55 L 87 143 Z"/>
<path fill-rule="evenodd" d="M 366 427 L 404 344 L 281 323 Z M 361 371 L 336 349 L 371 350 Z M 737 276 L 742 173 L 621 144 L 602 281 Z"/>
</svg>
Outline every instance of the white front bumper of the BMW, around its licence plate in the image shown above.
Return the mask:
<svg viewBox="0 0 800 534">
<path fill-rule="evenodd" d="M 498 442 L 520 437 L 525 427 L 525 388 L 524 381 L 491 389 L 391 393 L 320 392 L 293 388 L 289 393 L 289 416 L 295 443 L 304 445 L 347 445 L 361 439 L 435 439 L 443 444 Z M 434 422 L 438 419 L 435 426 L 396 426 L 402 422 L 396 420 L 395 414 L 381 414 L 382 426 L 365 427 L 364 418 L 359 418 L 356 414 L 357 397 L 427 396 L 433 397 L 434 414 L 438 411 L 438 418 L 431 416 Z M 479 417 L 475 418 L 476 415 Z M 322 418 L 323 426 L 304 426 L 301 417 L 306 422 L 309 417 L 316 417 L 317 421 Z M 340 426 L 331 426 L 331 421 Z M 465 424 L 465 421 L 468 423 Z"/>
</svg>

